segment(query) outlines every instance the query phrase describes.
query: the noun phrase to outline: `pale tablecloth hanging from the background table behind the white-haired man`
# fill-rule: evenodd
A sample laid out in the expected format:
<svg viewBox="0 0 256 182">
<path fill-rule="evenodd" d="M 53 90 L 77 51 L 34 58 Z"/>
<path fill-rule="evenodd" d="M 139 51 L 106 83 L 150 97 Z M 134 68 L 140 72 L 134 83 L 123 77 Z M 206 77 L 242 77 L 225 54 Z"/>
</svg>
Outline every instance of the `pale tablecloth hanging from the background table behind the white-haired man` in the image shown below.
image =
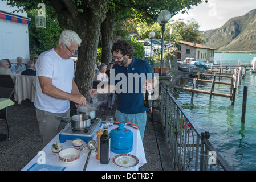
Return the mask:
<svg viewBox="0 0 256 182">
<path fill-rule="evenodd" d="M 22 100 L 30 99 L 35 102 L 36 76 L 17 75 L 15 81 L 14 100 L 21 104 Z"/>
</svg>

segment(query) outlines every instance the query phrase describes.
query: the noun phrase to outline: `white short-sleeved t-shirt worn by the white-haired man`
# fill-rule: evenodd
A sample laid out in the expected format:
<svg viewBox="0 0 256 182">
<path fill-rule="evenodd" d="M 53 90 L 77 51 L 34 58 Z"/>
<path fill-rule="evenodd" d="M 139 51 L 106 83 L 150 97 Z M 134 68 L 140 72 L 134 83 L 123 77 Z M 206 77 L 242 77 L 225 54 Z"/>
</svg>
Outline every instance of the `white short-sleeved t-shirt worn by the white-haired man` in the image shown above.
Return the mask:
<svg viewBox="0 0 256 182">
<path fill-rule="evenodd" d="M 70 108 L 70 101 L 54 98 L 42 92 L 38 77 L 52 78 L 52 85 L 71 93 L 74 77 L 74 61 L 63 59 L 54 49 L 43 52 L 38 57 L 36 68 L 35 107 L 50 113 L 65 113 Z"/>
</svg>

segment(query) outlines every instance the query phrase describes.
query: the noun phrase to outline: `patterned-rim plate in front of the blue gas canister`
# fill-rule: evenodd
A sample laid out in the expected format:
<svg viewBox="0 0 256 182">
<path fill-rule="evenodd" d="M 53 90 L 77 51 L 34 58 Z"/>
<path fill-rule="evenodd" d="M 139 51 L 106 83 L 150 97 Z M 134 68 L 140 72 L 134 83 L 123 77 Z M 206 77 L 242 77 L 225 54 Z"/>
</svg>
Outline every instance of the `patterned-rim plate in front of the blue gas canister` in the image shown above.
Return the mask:
<svg viewBox="0 0 256 182">
<path fill-rule="evenodd" d="M 121 163 L 120 159 L 123 158 L 124 156 L 129 158 L 129 162 L 127 164 Z M 119 154 L 113 157 L 112 163 L 117 167 L 132 168 L 139 164 L 139 159 L 136 156 L 131 154 Z"/>
</svg>

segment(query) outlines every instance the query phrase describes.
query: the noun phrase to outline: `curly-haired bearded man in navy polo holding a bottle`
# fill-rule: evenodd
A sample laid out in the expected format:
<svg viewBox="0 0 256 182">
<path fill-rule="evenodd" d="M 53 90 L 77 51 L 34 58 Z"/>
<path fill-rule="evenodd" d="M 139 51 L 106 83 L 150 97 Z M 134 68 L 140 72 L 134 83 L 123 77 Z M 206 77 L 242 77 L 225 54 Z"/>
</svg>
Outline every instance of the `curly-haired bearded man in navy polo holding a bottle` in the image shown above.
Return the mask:
<svg viewBox="0 0 256 182">
<path fill-rule="evenodd" d="M 150 92 L 152 86 L 157 84 L 156 77 L 146 60 L 133 57 L 133 47 L 127 41 L 118 40 L 113 44 L 111 52 L 117 64 L 113 66 L 108 87 L 106 86 L 103 92 L 110 93 L 116 89 L 119 93 L 116 121 L 138 125 L 143 140 L 148 110 L 144 105 L 143 88 Z M 147 86 L 145 86 L 146 79 L 151 80 Z M 90 90 L 91 96 L 96 93 L 98 93 L 97 89 Z"/>
</svg>

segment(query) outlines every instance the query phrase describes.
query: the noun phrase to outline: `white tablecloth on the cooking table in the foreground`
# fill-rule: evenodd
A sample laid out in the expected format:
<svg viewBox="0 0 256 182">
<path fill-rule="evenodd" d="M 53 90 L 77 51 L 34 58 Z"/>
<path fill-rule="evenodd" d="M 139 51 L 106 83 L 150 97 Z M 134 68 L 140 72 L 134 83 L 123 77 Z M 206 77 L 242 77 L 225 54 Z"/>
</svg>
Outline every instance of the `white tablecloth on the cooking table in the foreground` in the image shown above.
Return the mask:
<svg viewBox="0 0 256 182">
<path fill-rule="evenodd" d="M 68 124 L 70 125 L 70 123 Z M 104 125 L 104 124 L 103 124 Z M 113 125 L 111 127 L 111 129 L 115 129 L 116 127 L 118 127 L 118 125 Z M 140 137 L 140 131 L 137 129 L 133 129 L 132 127 L 129 126 L 125 126 L 125 128 L 128 128 L 129 130 L 131 130 L 133 132 L 133 150 L 131 152 L 129 152 L 128 154 L 131 155 L 135 155 L 138 159 L 139 159 L 139 164 L 133 168 L 120 168 L 115 166 L 112 163 L 112 158 L 118 154 L 115 154 L 113 152 L 111 152 L 111 158 L 108 164 L 100 164 L 100 160 L 96 159 L 96 154 L 97 152 L 95 152 L 94 154 L 91 154 L 90 156 L 90 160 L 88 162 L 86 171 L 124 171 L 124 170 L 129 170 L 129 171 L 136 171 L 138 170 L 141 166 L 143 166 L 145 163 L 147 163 L 146 158 L 145 158 L 145 152 L 144 152 L 144 147 L 143 147 L 143 143 Z M 101 130 L 103 129 L 103 127 L 101 126 Z M 96 131 L 98 131 L 99 129 L 97 129 Z M 110 130 L 108 129 L 108 133 L 110 133 Z M 95 134 L 94 138 L 93 138 L 96 142 L 97 142 L 97 135 Z M 63 150 L 67 149 L 67 148 L 74 148 L 72 146 L 72 140 L 67 140 L 64 143 L 60 143 L 59 142 L 59 134 L 56 135 L 56 137 L 54 139 L 51 140 L 50 143 L 47 144 L 46 147 L 43 148 L 43 152 L 45 152 L 45 159 L 46 159 L 46 164 L 50 164 L 53 166 L 62 166 L 62 167 L 66 167 L 65 171 L 82 171 L 84 168 L 84 164 L 86 163 L 86 159 L 87 159 L 87 155 L 83 154 L 82 152 L 80 153 L 80 158 L 78 159 L 77 162 L 72 163 L 72 164 L 64 164 L 62 162 L 59 161 L 59 156 L 58 155 L 54 155 L 51 151 L 51 146 L 53 143 L 58 142 L 58 144 L 62 144 L 63 146 Z M 86 145 L 86 143 L 84 142 L 83 146 Z M 42 152 L 40 152 L 42 153 Z M 39 154 L 40 154 L 39 153 Z M 23 169 L 22 171 L 27 171 L 27 169 L 29 169 L 33 164 L 35 164 L 36 162 L 42 163 L 42 158 L 43 155 L 36 155 Z"/>
</svg>

